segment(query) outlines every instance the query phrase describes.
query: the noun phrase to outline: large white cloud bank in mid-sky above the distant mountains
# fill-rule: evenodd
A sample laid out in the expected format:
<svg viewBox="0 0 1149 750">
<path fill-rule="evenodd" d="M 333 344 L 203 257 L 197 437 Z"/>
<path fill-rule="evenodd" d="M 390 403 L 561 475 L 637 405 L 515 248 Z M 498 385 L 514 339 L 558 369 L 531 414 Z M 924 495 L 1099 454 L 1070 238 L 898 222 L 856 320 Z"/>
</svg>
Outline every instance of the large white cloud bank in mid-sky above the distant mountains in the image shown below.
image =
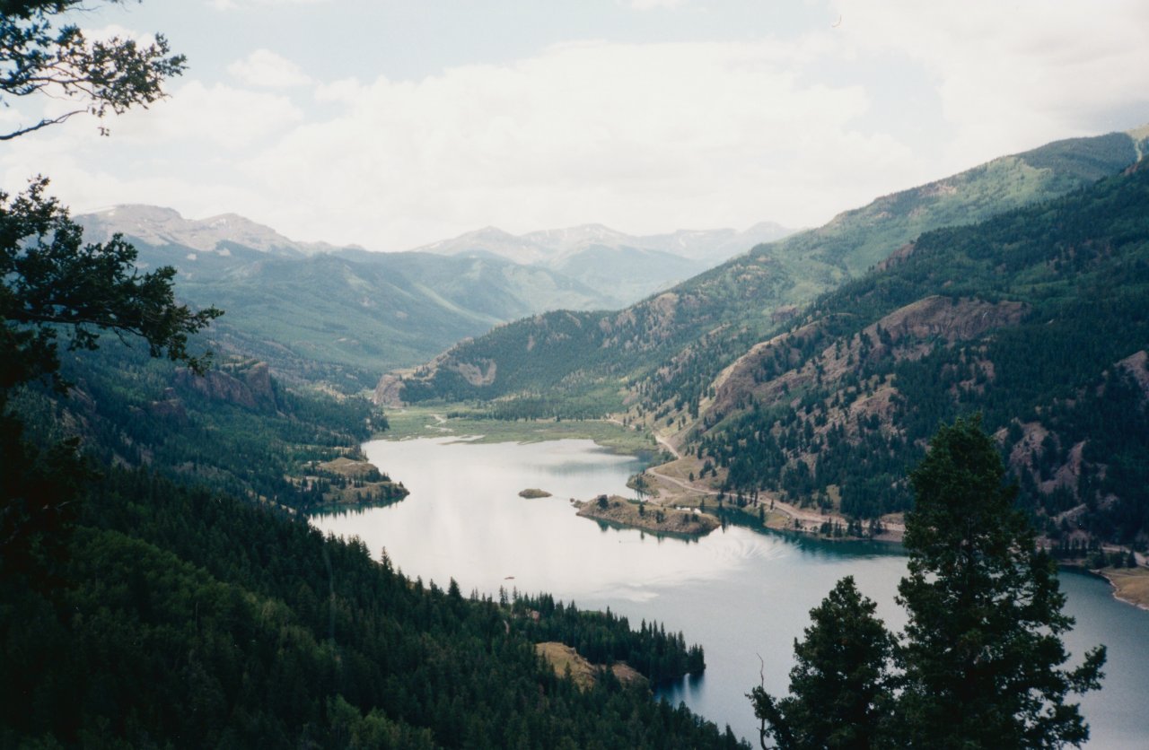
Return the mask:
<svg viewBox="0 0 1149 750">
<path fill-rule="evenodd" d="M 834 188 L 794 172 L 896 175 L 912 160 L 889 138 L 851 131 L 867 107 L 861 88 L 800 85 L 787 69 L 800 54 L 781 42 L 584 42 L 417 83 L 345 80 L 317 94 L 339 106 L 334 116 L 244 169 L 269 192 L 310 175 L 323 186 L 314 208 L 391 248 L 488 223 L 815 222 Z"/>
</svg>

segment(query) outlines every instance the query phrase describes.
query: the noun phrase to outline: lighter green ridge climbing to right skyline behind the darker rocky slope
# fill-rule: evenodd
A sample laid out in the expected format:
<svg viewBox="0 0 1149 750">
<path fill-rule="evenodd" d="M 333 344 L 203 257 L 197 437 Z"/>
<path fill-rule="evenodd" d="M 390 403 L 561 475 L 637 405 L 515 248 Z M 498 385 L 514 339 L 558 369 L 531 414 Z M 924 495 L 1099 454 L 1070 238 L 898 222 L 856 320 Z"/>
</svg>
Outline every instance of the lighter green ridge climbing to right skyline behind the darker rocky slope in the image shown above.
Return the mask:
<svg viewBox="0 0 1149 750">
<path fill-rule="evenodd" d="M 612 314 L 549 312 L 452 348 L 384 400 L 507 396 L 503 413 L 602 413 L 640 400 L 692 411 L 723 368 L 793 316 L 796 304 L 855 278 L 923 231 L 1064 194 L 1134 162 L 1144 133 L 1049 144 L 876 200 L 830 224 L 755 247 L 663 294 Z"/>
</svg>

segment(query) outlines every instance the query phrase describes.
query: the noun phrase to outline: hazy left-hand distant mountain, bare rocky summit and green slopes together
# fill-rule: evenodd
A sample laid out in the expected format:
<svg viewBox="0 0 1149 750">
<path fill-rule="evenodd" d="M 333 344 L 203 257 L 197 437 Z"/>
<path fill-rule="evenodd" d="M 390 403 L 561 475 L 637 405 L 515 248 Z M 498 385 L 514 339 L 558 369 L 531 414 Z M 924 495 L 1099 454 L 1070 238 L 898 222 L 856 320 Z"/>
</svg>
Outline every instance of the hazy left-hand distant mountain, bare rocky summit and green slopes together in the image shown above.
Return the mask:
<svg viewBox="0 0 1149 750">
<path fill-rule="evenodd" d="M 560 272 L 503 258 L 336 249 L 237 216 L 192 222 L 122 207 L 78 221 L 90 241 L 123 232 L 141 268 L 177 269 L 180 299 L 226 309 L 216 328 L 225 350 L 348 391 L 507 320 L 615 302 Z"/>
</svg>

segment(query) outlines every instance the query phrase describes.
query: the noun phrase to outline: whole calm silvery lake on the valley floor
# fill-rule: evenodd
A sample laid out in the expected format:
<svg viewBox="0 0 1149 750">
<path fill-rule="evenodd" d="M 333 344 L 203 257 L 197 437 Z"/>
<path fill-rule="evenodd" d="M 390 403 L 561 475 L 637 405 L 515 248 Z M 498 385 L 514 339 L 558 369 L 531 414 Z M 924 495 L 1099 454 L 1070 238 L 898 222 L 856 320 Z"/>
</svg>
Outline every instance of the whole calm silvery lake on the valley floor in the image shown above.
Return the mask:
<svg viewBox="0 0 1149 750">
<path fill-rule="evenodd" d="M 826 543 L 728 526 L 697 541 L 658 539 L 635 529 L 604 528 L 579 518 L 570 498 L 633 495 L 626 479 L 642 469 L 586 440 L 472 444 L 455 438 L 372 441 L 364 451 L 401 480 L 401 503 L 319 516 L 311 523 L 360 536 L 378 557 L 386 549 L 408 575 L 463 592 L 549 592 L 584 609 L 625 614 L 637 625 L 656 619 L 705 649 L 702 678 L 666 687 L 719 727 L 728 724 L 757 744 L 745 694 L 764 676 L 785 694 L 793 642 L 809 611 L 843 575 L 878 602 L 893 628 L 904 625 L 894 604 L 905 558 L 896 548 Z M 541 488 L 552 497 L 526 500 Z M 1081 699 L 1092 726 L 1090 749 L 1149 748 L 1149 612 L 1112 598 L 1105 581 L 1065 573 L 1067 611 L 1078 625 L 1067 639 L 1080 654 L 1109 647 L 1104 689 Z"/>
</svg>

